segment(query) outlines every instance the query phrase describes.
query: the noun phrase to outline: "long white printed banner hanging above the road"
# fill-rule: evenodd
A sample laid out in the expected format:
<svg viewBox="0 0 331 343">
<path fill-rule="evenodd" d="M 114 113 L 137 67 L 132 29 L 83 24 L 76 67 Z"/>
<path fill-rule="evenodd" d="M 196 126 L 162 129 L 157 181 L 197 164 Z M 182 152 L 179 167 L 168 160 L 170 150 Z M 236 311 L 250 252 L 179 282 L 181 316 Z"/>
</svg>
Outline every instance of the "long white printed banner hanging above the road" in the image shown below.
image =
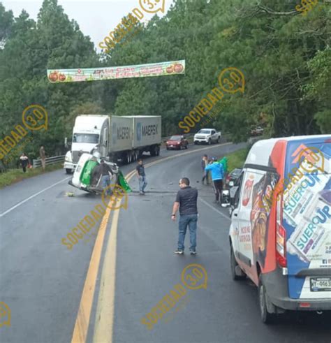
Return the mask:
<svg viewBox="0 0 331 343">
<path fill-rule="evenodd" d="M 149 76 L 177 75 L 185 73 L 185 60 L 137 66 L 110 68 L 47 69 L 47 78 L 52 83 L 114 80 L 124 78 L 147 78 Z"/>
</svg>

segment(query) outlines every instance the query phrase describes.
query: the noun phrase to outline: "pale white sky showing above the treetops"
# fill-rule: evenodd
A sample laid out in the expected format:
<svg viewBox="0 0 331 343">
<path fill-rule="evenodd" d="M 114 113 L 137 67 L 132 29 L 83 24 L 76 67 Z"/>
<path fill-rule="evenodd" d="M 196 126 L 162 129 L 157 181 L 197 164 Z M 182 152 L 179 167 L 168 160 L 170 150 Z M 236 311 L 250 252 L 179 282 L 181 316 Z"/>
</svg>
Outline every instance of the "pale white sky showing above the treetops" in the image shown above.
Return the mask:
<svg viewBox="0 0 331 343">
<path fill-rule="evenodd" d="M 165 1 L 165 13 L 167 13 L 173 1 L 162 1 Z M 15 17 L 18 17 L 24 9 L 36 20 L 43 0 L 0 0 L 0 2 L 6 10 L 13 10 Z M 98 43 L 121 22 L 124 15 L 131 12 L 133 8 L 140 8 L 139 0 L 58 0 L 58 3 L 64 8 L 70 20 L 74 19 L 78 22 L 84 36 L 91 37 L 96 48 Z M 142 21 L 153 16 L 152 13 L 144 14 Z M 160 11 L 157 14 L 163 15 Z"/>
</svg>

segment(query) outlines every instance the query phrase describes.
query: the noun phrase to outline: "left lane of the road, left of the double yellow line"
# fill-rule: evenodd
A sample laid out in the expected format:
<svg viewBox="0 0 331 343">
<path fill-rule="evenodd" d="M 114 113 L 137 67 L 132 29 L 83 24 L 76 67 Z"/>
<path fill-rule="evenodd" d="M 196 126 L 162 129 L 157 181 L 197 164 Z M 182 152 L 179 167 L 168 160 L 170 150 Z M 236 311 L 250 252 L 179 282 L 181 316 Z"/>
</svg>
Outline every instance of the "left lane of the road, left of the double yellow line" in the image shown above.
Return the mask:
<svg viewBox="0 0 331 343">
<path fill-rule="evenodd" d="M 162 150 L 162 156 L 146 161 L 201 148 Z M 95 236 L 71 251 L 61 238 L 100 198 L 69 186 L 67 178 L 57 170 L 0 190 L 0 301 L 10 307 L 12 319 L 10 327 L 0 328 L 0 342 L 71 340 Z M 67 191 L 75 196 L 67 197 Z"/>
</svg>

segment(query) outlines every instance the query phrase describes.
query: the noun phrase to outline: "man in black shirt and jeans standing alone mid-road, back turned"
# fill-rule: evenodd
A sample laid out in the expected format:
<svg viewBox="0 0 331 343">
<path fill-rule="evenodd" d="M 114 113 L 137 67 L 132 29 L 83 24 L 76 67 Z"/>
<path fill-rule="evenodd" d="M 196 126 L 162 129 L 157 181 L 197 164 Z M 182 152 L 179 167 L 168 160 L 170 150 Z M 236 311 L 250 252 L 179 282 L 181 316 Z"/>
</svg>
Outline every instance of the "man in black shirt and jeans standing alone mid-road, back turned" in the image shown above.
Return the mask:
<svg viewBox="0 0 331 343">
<path fill-rule="evenodd" d="M 184 240 L 186 235 L 186 228 L 189 226 L 190 231 L 190 251 L 191 255 L 196 254 L 196 226 L 198 221 L 198 191 L 190 187 L 190 180 L 183 177 L 179 180 L 180 190 L 177 193 L 175 203 L 172 207 L 171 219 L 176 220 L 176 213 L 179 209 L 179 237 L 178 249 L 175 254 L 184 254 Z"/>
</svg>

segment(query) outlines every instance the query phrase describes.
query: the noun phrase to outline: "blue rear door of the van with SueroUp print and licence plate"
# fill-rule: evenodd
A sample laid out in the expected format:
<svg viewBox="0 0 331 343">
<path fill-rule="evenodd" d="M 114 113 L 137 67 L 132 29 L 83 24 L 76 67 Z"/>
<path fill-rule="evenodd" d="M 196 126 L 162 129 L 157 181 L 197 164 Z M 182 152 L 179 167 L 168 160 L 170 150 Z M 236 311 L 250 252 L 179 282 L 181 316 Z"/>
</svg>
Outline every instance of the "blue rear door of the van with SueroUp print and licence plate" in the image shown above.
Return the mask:
<svg viewBox="0 0 331 343">
<path fill-rule="evenodd" d="M 289 141 L 282 224 L 288 293 L 331 299 L 331 136 Z"/>
</svg>

